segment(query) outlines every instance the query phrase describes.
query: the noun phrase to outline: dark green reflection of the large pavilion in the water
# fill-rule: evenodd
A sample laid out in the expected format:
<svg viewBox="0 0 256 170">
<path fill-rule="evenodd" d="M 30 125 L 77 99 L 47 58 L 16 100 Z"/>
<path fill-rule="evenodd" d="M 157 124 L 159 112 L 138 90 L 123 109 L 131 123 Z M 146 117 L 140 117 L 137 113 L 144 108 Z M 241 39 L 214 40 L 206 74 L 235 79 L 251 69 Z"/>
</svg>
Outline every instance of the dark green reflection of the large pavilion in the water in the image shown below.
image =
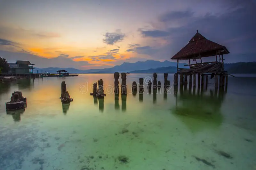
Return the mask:
<svg viewBox="0 0 256 170">
<path fill-rule="evenodd" d="M 187 91 L 180 86 L 179 91 L 174 94 L 176 106 L 172 111 L 191 131 L 209 126 L 218 127 L 223 120 L 220 108 L 225 94 L 224 89 L 209 89 L 207 92 L 199 87 L 197 90 L 189 88 Z"/>
</svg>

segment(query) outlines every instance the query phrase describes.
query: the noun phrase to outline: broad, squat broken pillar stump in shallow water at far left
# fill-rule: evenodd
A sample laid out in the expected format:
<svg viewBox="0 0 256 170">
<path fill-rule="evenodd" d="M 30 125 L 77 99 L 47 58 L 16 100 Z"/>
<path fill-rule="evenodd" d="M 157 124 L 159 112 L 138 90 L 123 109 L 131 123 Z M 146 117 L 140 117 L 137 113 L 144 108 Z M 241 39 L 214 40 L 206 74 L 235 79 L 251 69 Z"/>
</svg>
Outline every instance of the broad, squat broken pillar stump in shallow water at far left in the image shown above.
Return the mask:
<svg viewBox="0 0 256 170">
<path fill-rule="evenodd" d="M 5 103 L 5 109 L 6 110 L 24 109 L 25 104 L 26 104 L 25 102 L 20 101 L 18 93 L 12 93 L 11 101 Z"/>
</svg>

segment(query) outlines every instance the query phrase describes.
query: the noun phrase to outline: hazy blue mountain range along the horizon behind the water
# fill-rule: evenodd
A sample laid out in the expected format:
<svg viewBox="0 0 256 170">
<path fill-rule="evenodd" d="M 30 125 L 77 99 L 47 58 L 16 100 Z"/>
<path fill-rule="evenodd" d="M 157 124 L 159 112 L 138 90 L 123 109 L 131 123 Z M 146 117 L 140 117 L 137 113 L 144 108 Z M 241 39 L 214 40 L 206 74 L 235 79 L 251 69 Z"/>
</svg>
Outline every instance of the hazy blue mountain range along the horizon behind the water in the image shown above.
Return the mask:
<svg viewBox="0 0 256 170">
<path fill-rule="evenodd" d="M 188 68 L 185 66 L 186 63 L 179 63 L 180 68 Z M 238 63 L 227 63 L 224 64 L 225 70 L 228 73 L 233 74 L 256 74 L 256 62 L 238 62 Z M 124 62 L 119 66 L 114 66 L 111 68 L 103 69 L 89 69 L 89 70 L 79 70 L 75 68 L 60 68 L 60 67 L 48 67 L 48 68 L 36 68 L 34 73 L 56 73 L 57 70 L 66 70 L 69 73 L 115 73 L 115 72 L 129 72 L 129 73 L 176 73 L 177 63 L 171 61 L 138 61 L 135 63 Z"/>
</svg>

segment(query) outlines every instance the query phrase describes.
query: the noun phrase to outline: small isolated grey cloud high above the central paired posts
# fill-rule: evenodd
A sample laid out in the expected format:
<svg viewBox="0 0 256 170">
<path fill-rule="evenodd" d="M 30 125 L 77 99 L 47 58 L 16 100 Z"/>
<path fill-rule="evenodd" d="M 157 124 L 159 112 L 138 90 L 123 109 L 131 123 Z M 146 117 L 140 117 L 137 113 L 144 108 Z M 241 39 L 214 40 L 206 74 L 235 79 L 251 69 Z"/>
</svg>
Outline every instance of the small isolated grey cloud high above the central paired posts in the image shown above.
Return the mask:
<svg viewBox="0 0 256 170">
<path fill-rule="evenodd" d="M 116 30 L 116 32 L 107 32 L 104 35 L 105 39 L 103 42 L 108 45 L 114 45 L 117 42 L 122 42 L 124 40 L 125 34 L 121 30 Z"/>
</svg>

